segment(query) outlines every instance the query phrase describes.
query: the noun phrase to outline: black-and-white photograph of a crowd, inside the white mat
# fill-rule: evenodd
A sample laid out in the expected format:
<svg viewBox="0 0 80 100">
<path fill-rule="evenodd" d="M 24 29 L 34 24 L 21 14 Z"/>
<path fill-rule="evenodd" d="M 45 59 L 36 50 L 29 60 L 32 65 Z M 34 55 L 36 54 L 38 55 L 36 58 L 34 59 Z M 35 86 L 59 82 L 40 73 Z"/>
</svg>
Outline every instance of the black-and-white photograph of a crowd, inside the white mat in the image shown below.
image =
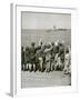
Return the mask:
<svg viewBox="0 0 80 100">
<path fill-rule="evenodd" d="M 21 88 L 71 86 L 71 13 L 21 11 Z"/>
</svg>

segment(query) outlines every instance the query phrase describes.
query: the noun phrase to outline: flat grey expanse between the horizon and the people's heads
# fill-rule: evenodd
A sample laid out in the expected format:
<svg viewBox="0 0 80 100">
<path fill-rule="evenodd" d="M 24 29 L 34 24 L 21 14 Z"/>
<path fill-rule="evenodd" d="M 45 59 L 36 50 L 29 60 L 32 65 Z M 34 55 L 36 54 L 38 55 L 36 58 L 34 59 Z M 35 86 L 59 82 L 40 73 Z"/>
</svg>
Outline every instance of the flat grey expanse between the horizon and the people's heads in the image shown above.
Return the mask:
<svg viewBox="0 0 80 100">
<path fill-rule="evenodd" d="M 23 47 L 30 46 L 31 42 L 38 46 L 40 39 L 43 43 L 63 40 L 67 46 L 71 46 L 71 30 L 21 30 L 21 46 Z"/>
</svg>

